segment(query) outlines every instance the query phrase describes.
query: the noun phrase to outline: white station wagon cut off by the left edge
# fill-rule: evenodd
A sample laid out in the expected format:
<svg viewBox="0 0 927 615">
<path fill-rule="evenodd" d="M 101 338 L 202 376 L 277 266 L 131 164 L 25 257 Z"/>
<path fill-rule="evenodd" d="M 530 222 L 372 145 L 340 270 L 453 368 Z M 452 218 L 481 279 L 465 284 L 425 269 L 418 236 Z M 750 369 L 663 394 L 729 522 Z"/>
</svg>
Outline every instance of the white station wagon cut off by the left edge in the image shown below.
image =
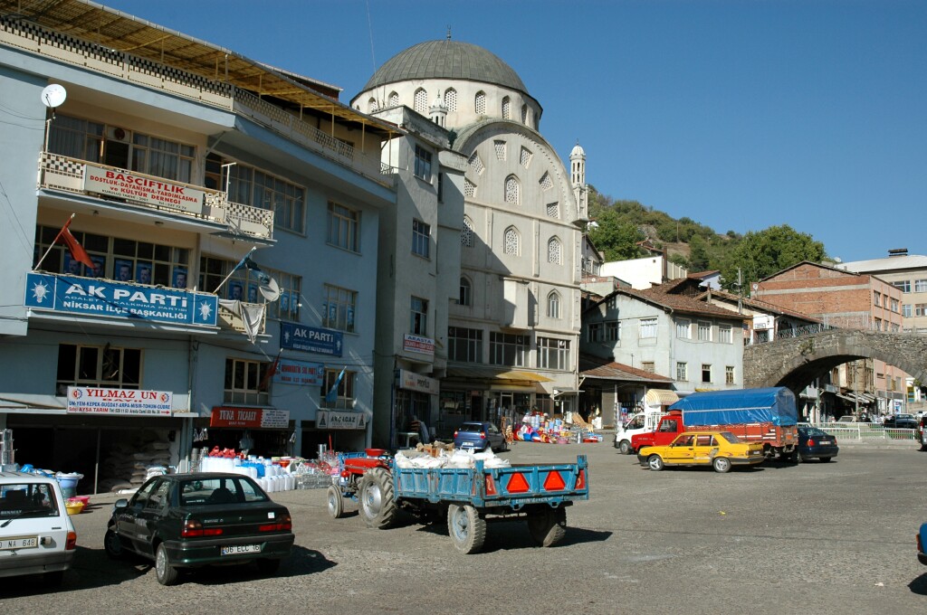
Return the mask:
<svg viewBox="0 0 927 615">
<path fill-rule="evenodd" d="M 61 487 L 29 472 L 0 472 L 0 577 L 44 574 L 58 585 L 70 568 L 77 533 Z"/>
</svg>

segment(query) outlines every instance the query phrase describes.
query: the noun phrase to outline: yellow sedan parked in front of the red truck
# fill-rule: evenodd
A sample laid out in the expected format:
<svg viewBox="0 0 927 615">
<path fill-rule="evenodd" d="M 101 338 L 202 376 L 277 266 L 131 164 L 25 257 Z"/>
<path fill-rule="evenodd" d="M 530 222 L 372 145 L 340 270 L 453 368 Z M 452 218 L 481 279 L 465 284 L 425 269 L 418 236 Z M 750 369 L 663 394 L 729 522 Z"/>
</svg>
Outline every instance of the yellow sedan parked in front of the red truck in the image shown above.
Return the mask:
<svg viewBox="0 0 927 615">
<path fill-rule="evenodd" d="M 685 432 L 665 446 L 644 446 L 638 451 L 641 466 L 660 471 L 665 466 L 711 466 L 717 472 L 735 465 L 762 463 L 760 442 L 743 442 L 730 432 Z"/>
</svg>

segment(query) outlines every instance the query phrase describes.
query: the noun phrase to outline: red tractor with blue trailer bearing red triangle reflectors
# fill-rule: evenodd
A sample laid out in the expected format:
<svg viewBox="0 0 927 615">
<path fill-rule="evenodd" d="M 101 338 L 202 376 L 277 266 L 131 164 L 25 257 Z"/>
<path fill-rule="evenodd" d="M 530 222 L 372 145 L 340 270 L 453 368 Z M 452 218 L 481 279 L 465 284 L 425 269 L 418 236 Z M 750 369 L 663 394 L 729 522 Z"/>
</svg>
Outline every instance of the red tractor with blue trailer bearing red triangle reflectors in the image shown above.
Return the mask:
<svg viewBox="0 0 927 615">
<path fill-rule="evenodd" d="M 476 553 L 486 540 L 488 521 L 527 521 L 540 546 L 560 542 L 566 507 L 589 499 L 589 463 L 513 464 L 473 468 L 399 467 L 386 458 L 348 458 L 340 481 L 328 490 L 328 512 L 341 517 L 345 500 L 358 503 L 368 527 L 386 529 L 400 510 L 425 522 L 447 519 L 457 550 Z"/>
</svg>

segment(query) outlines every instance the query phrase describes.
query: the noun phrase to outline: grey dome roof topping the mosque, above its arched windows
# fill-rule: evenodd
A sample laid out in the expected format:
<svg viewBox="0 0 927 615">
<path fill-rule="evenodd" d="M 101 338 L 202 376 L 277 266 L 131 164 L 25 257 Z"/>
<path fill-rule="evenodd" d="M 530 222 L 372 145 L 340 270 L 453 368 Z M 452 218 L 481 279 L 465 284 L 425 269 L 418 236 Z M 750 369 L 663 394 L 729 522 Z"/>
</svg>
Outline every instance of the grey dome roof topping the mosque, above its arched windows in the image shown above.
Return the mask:
<svg viewBox="0 0 927 615">
<path fill-rule="evenodd" d="M 414 44 L 387 60 L 363 90 L 414 79 L 462 79 L 487 82 L 527 94 L 512 67 L 483 47 L 442 39 Z"/>
</svg>

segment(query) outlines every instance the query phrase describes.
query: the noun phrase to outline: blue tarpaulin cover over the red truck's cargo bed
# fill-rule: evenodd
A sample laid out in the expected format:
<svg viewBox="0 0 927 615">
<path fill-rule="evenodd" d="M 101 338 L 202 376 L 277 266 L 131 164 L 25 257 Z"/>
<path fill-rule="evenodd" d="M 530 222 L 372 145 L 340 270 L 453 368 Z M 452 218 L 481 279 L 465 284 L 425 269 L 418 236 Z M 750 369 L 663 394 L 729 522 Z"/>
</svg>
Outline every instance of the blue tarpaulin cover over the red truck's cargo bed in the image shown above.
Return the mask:
<svg viewBox="0 0 927 615">
<path fill-rule="evenodd" d="M 669 409 L 682 410 L 682 423 L 687 428 L 754 422 L 788 427 L 798 420 L 795 395 L 784 386 L 693 393 Z"/>
</svg>

